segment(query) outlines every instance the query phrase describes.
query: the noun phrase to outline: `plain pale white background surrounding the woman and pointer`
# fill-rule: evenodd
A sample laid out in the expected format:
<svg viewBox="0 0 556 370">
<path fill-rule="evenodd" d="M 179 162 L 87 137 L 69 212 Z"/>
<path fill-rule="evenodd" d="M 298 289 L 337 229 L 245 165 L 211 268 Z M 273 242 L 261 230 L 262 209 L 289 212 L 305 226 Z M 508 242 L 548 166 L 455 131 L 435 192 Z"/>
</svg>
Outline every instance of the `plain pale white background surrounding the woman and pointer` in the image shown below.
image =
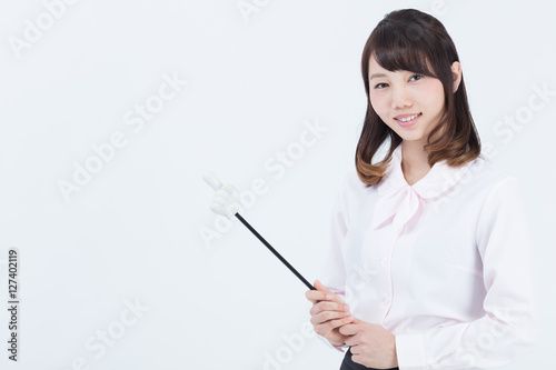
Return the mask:
<svg viewBox="0 0 556 370">
<path fill-rule="evenodd" d="M 244 217 L 317 279 L 334 197 L 355 169 L 363 47 L 400 8 L 446 26 L 480 138 L 524 189 L 544 331 L 530 356 L 504 369 L 554 368 L 554 6 L 244 2 L 257 11 L 242 14 L 236 0 L 80 0 L 48 24 L 43 2 L 2 0 L 1 368 L 338 369 L 341 353 L 304 336 L 306 288 L 247 229 L 235 220 L 201 238 L 217 230 L 201 176 L 212 170 L 240 190 L 264 179 L 267 192 Z M 42 34 L 17 52 L 13 40 L 24 41 L 38 18 Z M 135 132 L 126 114 L 156 101 L 165 76 L 188 83 Z M 526 113 L 543 86 L 553 91 L 543 109 L 495 131 L 505 116 Z M 282 173 L 265 168 L 294 150 L 307 122 L 328 131 Z M 72 182 L 76 163 L 93 160 L 91 146 L 115 132 L 127 144 L 66 200 L 59 182 Z M 7 351 L 11 248 L 20 257 L 17 363 Z"/>
</svg>

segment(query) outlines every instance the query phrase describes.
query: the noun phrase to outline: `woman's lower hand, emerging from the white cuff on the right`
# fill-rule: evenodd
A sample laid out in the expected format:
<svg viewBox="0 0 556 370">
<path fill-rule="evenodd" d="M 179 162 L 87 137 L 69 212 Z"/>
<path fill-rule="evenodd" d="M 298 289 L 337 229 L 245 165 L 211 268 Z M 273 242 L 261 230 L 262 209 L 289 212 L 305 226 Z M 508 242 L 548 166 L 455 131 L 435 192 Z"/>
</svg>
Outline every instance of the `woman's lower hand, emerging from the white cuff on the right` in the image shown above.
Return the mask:
<svg viewBox="0 0 556 370">
<path fill-rule="evenodd" d="M 396 337 L 385 328 L 354 318 L 339 331 L 348 336 L 346 344 L 351 347 L 354 362 L 375 369 L 398 367 Z"/>
</svg>

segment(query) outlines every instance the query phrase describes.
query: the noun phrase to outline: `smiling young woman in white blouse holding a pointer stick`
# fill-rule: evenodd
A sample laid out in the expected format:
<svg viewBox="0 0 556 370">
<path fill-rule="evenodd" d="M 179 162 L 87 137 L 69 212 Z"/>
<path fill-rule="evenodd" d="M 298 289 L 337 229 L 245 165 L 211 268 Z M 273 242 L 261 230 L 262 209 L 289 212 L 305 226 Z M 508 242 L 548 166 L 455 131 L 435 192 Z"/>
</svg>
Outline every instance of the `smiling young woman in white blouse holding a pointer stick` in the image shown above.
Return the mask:
<svg viewBox="0 0 556 370">
<path fill-rule="evenodd" d="M 331 218 L 315 331 L 348 369 L 481 369 L 536 338 L 517 181 L 480 156 L 444 26 L 387 14 L 363 52 L 367 114 Z M 381 153 L 383 152 L 383 153 Z"/>
</svg>

